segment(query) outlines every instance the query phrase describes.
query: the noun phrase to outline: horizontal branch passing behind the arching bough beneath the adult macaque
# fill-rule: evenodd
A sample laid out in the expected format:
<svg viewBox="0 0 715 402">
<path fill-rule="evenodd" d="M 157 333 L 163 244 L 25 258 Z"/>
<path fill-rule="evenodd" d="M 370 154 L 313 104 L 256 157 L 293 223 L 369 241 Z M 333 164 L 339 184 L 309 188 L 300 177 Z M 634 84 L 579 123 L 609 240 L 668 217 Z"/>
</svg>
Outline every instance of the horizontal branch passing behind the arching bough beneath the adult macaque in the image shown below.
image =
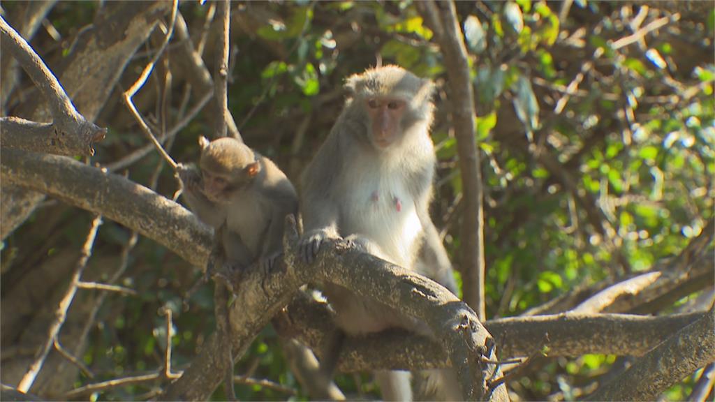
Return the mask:
<svg viewBox="0 0 715 402">
<path fill-rule="evenodd" d="M 273 325 L 279 333 L 300 339 L 314 350 L 333 329 L 325 303 L 303 293 L 292 300 Z M 488 320 L 501 349 L 499 358 L 531 356 L 548 350 L 548 356 L 581 356 L 603 353 L 643 356 L 677 330 L 694 323 L 703 313 L 651 317 L 628 314 L 556 314 Z M 548 339 L 548 342 L 546 341 Z M 548 349 L 544 349 L 544 347 Z M 398 351 L 398 353 L 395 353 Z M 347 338 L 338 368 L 343 372 L 375 368 L 442 368 L 447 357 L 437 343 L 403 331 Z"/>
</svg>

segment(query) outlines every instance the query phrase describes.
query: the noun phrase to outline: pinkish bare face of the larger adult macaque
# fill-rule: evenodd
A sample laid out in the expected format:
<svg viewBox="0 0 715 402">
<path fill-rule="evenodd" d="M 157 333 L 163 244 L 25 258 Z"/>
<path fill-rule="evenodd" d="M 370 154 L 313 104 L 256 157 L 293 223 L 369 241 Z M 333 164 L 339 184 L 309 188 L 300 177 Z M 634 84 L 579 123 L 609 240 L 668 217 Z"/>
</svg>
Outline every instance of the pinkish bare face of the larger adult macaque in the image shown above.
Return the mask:
<svg viewBox="0 0 715 402">
<path fill-rule="evenodd" d="M 395 98 L 371 98 L 365 101 L 370 115 L 370 140 L 380 149 L 394 144 L 402 135 L 400 122 L 407 102 Z"/>
</svg>

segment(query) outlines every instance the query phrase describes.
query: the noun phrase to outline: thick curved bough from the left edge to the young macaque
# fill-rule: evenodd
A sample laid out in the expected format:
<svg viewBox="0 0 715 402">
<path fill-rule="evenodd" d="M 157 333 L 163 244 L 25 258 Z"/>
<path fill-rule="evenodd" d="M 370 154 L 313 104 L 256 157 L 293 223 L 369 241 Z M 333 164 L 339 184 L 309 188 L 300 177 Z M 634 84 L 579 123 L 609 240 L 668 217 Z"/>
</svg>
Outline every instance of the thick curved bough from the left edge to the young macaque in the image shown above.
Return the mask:
<svg viewBox="0 0 715 402">
<path fill-rule="evenodd" d="M 137 230 L 193 265 L 203 267 L 211 232 L 181 205 L 125 177 L 68 157 L 2 149 L 4 184 L 21 185 Z"/>
</svg>

